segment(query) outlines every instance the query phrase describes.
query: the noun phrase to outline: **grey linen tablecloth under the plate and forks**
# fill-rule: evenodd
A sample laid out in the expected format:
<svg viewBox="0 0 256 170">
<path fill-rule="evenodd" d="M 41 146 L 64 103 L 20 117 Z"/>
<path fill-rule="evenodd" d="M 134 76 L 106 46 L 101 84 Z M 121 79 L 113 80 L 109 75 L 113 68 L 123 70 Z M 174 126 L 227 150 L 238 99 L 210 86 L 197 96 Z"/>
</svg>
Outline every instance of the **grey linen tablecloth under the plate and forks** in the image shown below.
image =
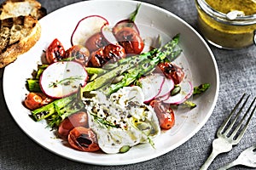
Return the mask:
<svg viewBox="0 0 256 170">
<path fill-rule="evenodd" d="M 1 3 L 3 0 L 0 1 Z M 79 0 L 39 0 L 48 14 Z M 147 0 L 177 14 L 197 30 L 197 13 L 193 0 Z M 220 89 L 217 105 L 201 130 L 177 149 L 149 161 L 117 167 L 100 167 L 70 161 L 45 150 L 26 136 L 15 123 L 3 98 L 3 80 L 0 80 L 0 169 L 199 169 L 212 151 L 212 140 L 224 117 L 230 112 L 241 94 L 256 95 L 256 47 L 224 50 L 212 47 L 218 63 Z M 1 71 L 3 74 L 3 71 Z M 2 76 L 1 76 L 2 77 Z M 14 80 L 15 83 L 15 80 Z M 256 116 L 241 139 L 229 153 L 219 155 L 209 169 L 217 169 L 234 160 L 241 150 L 256 144 Z M 86 159 L 86 158 L 84 158 Z M 247 169 L 234 167 L 233 169 Z"/>
</svg>

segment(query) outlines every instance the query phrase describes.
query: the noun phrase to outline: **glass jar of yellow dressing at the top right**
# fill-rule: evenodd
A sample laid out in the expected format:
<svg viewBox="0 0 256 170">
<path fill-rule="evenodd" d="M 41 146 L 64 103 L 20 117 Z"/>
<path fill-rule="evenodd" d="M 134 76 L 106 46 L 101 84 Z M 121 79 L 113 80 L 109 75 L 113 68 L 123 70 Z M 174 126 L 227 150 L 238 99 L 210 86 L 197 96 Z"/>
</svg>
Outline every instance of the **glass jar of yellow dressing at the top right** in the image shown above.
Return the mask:
<svg viewBox="0 0 256 170">
<path fill-rule="evenodd" d="M 256 5 L 251 0 L 252 5 Z M 213 2 L 214 3 L 214 2 Z M 245 15 L 242 11 L 229 13 L 212 8 L 205 0 L 195 0 L 198 27 L 203 37 L 218 48 L 244 48 L 256 42 L 256 13 Z M 253 8 L 256 8 L 253 6 Z M 254 11 L 253 11 L 254 12 Z"/>
</svg>

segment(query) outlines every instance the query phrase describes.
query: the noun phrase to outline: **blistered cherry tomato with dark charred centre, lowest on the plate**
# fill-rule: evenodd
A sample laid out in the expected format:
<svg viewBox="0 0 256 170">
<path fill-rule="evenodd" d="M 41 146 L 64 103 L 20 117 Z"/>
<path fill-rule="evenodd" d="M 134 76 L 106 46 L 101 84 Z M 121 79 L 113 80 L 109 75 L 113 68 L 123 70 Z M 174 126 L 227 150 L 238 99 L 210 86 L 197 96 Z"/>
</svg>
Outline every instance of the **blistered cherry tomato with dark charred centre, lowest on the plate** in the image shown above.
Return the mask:
<svg viewBox="0 0 256 170">
<path fill-rule="evenodd" d="M 76 150 L 96 151 L 100 150 L 97 144 L 96 133 L 90 128 L 74 127 L 68 134 L 68 143 Z"/>
</svg>

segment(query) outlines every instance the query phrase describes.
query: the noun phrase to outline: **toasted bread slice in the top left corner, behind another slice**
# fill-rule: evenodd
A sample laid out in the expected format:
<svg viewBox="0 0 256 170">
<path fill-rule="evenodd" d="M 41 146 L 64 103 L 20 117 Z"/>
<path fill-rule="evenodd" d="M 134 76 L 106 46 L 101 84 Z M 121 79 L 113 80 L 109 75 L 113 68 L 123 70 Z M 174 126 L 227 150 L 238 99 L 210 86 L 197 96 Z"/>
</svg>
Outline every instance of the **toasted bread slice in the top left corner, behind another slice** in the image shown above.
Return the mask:
<svg viewBox="0 0 256 170">
<path fill-rule="evenodd" d="M 39 20 L 46 15 L 46 9 L 36 0 L 6 0 L 0 6 L 0 20 L 29 14 Z"/>
</svg>

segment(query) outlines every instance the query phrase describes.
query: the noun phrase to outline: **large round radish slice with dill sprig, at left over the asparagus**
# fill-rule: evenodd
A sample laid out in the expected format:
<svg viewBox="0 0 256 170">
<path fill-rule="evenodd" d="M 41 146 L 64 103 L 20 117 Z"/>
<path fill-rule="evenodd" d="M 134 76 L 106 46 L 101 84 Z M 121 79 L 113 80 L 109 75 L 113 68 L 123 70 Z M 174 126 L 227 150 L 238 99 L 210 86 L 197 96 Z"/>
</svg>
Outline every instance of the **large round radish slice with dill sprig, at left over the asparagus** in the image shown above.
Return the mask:
<svg viewBox="0 0 256 170">
<path fill-rule="evenodd" d="M 60 99 L 78 91 L 87 82 L 84 67 L 74 61 L 60 61 L 49 65 L 40 77 L 40 87 L 44 94 Z"/>
</svg>

